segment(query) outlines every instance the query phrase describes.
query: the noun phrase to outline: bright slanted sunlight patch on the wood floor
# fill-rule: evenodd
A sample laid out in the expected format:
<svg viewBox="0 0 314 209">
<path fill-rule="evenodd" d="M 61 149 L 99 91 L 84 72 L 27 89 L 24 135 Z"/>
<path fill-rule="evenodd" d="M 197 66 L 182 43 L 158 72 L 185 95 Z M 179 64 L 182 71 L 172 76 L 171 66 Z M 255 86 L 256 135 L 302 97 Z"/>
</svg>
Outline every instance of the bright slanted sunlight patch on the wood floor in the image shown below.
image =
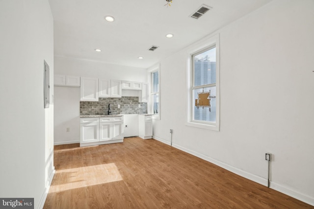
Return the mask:
<svg viewBox="0 0 314 209">
<path fill-rule="evenodd" d="M 55 171 L 49 193 L 123 180 L 115 163 Z"/>
</svg>

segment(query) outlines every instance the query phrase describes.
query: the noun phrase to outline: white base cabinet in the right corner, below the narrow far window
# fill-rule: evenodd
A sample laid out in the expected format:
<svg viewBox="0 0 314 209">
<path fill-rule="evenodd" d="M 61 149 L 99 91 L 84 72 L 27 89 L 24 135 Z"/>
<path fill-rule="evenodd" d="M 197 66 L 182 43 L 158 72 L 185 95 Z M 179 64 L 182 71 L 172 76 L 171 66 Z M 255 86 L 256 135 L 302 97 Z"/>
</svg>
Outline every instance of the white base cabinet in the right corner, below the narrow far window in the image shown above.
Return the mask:
<svg viewBox="0 0 314 209">
<path fill-rule="evenodd" d="M 153 116 L 147 114 L 138 115 L 138 136 L 142 139 L 152 139 Z"/>
</svg>

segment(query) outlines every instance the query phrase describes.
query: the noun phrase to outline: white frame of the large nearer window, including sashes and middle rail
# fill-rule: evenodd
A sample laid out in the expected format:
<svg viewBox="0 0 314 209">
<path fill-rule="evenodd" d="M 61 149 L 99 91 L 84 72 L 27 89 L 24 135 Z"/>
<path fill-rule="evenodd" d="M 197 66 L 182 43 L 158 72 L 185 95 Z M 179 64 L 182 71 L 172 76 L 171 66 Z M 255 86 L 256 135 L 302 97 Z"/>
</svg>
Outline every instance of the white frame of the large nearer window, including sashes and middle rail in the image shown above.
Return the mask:
<svg viewBox="0 0 314 209">
<path fill-rule="evenodd" d="M 194 86 L 194 60 L 193 56 L 203 53 L 210 48 L 216 47 L 216 83 L 201 86 Z M 219 53 L 219 34 L 211 36 L 199 44 L 191 47 L 187 53 L 187 118 L 185 125 L 198 128 L 220 130 L 220 53 Z M 202 87 L 216 86 L 216 122 L 194 120 L 193 90 Z"/>
</svg>

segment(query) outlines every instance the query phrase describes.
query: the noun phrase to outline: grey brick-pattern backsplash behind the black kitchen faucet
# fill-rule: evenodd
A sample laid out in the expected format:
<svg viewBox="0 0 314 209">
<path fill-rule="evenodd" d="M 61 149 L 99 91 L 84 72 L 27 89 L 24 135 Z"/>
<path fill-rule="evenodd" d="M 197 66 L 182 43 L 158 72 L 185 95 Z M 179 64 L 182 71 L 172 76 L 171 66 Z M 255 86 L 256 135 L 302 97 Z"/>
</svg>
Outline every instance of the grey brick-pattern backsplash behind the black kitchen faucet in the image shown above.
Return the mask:
<svg viewBox="0 0 314 209">
<path fill-rule="evenodd" d="M 109 104 L 112 115 L 147 113 L 147 103 L 138 102 L 137 96 L 122 96 L 121 98 L 99 98 L 98 102 L 80 101 L 80 115 L 107 115 Z M 120 108 L 118 108 L 118 104 L 120 104 Z"/>
</svg>

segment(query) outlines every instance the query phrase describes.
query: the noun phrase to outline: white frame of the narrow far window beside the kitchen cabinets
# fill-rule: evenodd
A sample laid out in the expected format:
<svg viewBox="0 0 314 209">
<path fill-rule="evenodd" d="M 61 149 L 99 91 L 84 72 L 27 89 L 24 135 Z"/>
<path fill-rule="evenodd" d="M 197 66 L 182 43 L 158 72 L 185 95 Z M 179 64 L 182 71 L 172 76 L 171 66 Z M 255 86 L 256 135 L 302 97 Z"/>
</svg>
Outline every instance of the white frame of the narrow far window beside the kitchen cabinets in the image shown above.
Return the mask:
<svg viewBox="0 0 314 209">
<path fill-rule="evenodd" d="M 154 91 L 154 80 L 153 80 L 153 73 L 158 72 L 158 91 Z M 160 100 L 160 65 L 158 64 L 157 66 L 154 66 L 148 70 L 148 77 L 150 80 L 150 99 L 149 99 L 149 107 L 150 107 L 150 113 L 153 115 L 153 119 L 160 120 L 160 111 L 161 111 L 161 100 Z M 158 94 L 158 100 L 159 100 L 159 108 L 158 108 L 158 113 L 154 114 L 154 103 L 153 103 L 153 95 Z"/>
</svg>

